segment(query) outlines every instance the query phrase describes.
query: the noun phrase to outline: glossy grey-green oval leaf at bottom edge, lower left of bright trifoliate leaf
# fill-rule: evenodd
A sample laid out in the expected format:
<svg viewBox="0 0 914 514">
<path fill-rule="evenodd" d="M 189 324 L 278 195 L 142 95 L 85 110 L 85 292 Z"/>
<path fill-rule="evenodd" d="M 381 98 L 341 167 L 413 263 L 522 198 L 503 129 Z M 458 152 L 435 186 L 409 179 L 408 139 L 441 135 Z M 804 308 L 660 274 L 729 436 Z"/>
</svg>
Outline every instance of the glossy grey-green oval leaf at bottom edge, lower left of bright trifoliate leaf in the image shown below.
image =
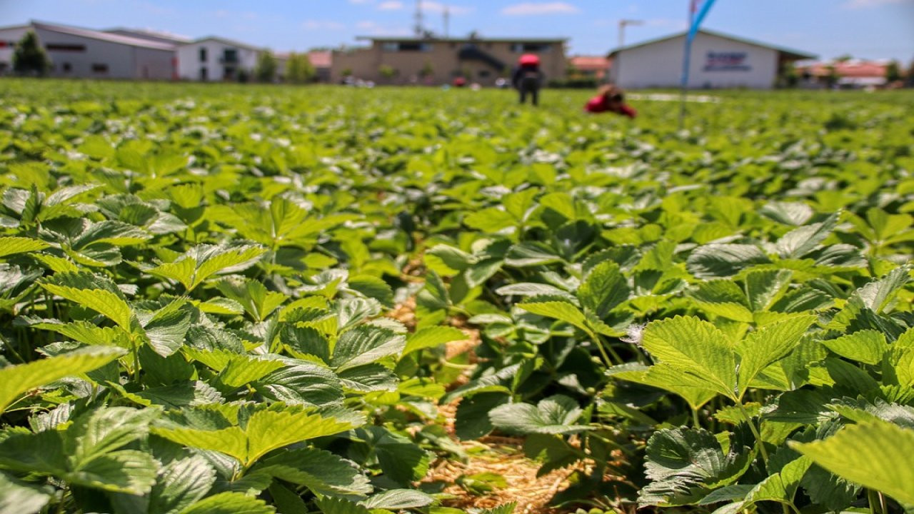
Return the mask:
<svg viewBox="0 0 914 514">
<path fill-rule="evenodd" d="M 172 514 L 186 509 L 209 492 L 216 482 L 216 470 L 207 459 L 194 455 L 174 460 L 162 473 L 149 493 L 149 512 Z"/>
</svg>

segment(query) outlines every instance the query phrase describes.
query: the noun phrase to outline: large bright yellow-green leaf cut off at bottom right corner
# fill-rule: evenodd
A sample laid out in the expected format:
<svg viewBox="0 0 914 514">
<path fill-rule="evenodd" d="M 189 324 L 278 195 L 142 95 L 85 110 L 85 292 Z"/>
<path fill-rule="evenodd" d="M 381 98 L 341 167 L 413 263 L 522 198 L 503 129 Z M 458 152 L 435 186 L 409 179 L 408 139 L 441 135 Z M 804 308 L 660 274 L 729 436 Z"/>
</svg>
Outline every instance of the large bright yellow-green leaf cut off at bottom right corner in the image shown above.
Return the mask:
<svg viewBox="0 0 914 514">
<path fill-rule="evenodd" d="M 914 430 L 873 420 L 834 436 L 791 447 L 839 477 L 914 505 Z"/>
</svg>

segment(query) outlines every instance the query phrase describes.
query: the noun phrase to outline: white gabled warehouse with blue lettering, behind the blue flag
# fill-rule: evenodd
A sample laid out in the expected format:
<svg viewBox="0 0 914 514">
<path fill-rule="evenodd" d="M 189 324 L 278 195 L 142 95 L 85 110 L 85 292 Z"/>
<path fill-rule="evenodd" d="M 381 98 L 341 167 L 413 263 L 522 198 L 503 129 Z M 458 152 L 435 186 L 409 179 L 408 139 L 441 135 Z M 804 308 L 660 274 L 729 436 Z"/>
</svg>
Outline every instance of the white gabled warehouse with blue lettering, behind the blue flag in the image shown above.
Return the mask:
<svg viewBox="0 0 914 514">
<path fill-rule="evenodd" d="M 678 88 L 686 33 L 616 48 L 610 53 L 611 80 L 624 89 Z M 771 89 L 787 63 L 814 55 L 710 30 L 692 42 L 689 89 Z"/>
</svg>

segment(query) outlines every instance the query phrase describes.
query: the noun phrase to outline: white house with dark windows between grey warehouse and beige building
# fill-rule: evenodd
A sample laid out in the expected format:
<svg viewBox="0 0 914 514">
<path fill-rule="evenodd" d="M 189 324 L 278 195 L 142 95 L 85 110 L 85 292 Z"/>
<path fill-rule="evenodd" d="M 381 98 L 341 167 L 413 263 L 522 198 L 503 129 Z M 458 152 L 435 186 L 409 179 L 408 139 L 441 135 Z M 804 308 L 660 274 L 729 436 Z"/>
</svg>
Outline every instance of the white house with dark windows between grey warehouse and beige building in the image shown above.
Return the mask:
<svg viewBox="0 0 914 514">
<path fill-rule="evenodd" d="M 201 82 L 238 80 L 241 73 L 250 75 L 264 50 L 224 37 L 201 37 L 177 47 L 177 74 Z"/>
</svg>

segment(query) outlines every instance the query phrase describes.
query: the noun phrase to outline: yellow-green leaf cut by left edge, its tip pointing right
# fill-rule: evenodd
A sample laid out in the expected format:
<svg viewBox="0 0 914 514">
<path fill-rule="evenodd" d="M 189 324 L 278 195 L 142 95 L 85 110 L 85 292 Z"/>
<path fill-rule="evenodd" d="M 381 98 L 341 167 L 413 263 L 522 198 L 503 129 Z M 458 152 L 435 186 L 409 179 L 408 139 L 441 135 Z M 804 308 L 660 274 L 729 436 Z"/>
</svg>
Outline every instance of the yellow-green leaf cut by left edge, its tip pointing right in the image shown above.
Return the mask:
<svg viewBox="0 0 914 514">
<path fill-rule="evenodd" d="M 0 412 L 5 411 L 16 396 L 39 386 L 99 369 L 125 351 L 112 347 L 89 347 L 18 366 L 0 369 Z"/>
</svg>

